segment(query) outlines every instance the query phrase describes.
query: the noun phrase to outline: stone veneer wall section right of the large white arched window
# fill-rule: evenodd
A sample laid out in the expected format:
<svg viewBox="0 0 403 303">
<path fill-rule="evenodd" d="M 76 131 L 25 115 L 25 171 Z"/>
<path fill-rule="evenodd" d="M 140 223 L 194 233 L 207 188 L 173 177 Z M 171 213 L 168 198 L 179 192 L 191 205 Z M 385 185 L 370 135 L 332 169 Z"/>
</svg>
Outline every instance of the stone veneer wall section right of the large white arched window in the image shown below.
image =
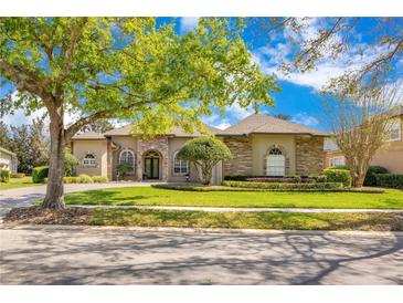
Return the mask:
<svg viewBox="0 0 403 303">
<path fill-rule="evenodd" d="M 295 145 L 297 175 L 321 174 L 324 171 L 324 138 L 297 136 Z"/>
</svg>

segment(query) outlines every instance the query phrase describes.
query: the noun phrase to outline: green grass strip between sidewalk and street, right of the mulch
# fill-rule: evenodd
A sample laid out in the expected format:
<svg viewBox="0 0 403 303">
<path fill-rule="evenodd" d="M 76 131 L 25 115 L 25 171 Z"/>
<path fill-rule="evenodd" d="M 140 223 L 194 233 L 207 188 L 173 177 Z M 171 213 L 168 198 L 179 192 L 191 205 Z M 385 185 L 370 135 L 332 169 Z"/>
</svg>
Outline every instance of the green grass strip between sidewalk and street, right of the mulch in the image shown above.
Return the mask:
<svg viewBox="0 0 403 303">
<path fill-rule="evenodd" d="M 94 209 L 89 224 L 286 230 L 403 230 L 396 213 L 205 212 Z"/>
</svg>

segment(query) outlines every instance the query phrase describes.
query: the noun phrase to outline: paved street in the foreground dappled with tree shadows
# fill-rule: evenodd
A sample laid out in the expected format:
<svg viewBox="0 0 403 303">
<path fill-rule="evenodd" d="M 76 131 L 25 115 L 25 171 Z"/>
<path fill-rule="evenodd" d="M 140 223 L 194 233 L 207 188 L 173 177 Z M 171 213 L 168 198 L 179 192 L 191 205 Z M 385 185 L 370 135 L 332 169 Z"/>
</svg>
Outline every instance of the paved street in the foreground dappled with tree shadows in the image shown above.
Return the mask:
<svg viewBox="0 0 403 303">
<path fill-rule="evenodd" d="M 1 284 L 403 284 L 403 234 L 0 227 Z"/>
</svg>

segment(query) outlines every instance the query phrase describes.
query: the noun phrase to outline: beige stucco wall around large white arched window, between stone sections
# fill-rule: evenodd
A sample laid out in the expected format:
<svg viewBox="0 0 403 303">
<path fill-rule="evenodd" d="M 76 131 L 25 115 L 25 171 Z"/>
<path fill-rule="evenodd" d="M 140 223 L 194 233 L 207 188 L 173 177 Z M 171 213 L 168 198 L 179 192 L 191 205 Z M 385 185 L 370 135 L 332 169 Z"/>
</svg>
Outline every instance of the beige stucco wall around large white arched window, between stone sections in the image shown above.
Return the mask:
<svg viewBox="0 0 403 303">
<path fill-rule="evenodd" d="M 251 137 L 252 175 L 263 176 L 266 174 L 264 171 L 264 161 L 268 148 L 271 148 L 273 145 L 278 145 L 286 150 L 286 157 L 289 159 L 289 168 L 286 174 L 295 174 L 295 136 L 253 134 Z"/>
</svg>

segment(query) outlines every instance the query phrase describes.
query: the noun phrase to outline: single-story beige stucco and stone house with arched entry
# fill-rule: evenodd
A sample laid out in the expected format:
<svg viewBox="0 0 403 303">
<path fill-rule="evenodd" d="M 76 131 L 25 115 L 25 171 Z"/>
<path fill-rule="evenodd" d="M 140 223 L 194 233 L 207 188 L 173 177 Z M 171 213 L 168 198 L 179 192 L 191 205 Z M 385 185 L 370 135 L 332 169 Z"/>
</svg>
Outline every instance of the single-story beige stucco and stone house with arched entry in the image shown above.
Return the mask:
<svg viewBox="0 0 403 303">
<path fill-rule="evenodd" d="M 220 184 L 232 175 L 310 175 L 324 169 L 324 139 L 319 130 L 268 115 L 251 115 L 240 123 L 220 130 L 205 125 L 210 134 L 223 140 L 233 159 L 219 164 L 213 182 Z M 98 133 L 83 133 L 73 137 L 72 153 L 79 159 L 77 174 L 107 176 L 117 179 L 119 163 L 129 164 L 131 180 L 185 181 L 197 180 L 198 171 L 176 155 L 183 144 L 202 134 L 185 133 L 177 127 L 153 139 L 130 135 L 131 125 Z"/>
</svg>

